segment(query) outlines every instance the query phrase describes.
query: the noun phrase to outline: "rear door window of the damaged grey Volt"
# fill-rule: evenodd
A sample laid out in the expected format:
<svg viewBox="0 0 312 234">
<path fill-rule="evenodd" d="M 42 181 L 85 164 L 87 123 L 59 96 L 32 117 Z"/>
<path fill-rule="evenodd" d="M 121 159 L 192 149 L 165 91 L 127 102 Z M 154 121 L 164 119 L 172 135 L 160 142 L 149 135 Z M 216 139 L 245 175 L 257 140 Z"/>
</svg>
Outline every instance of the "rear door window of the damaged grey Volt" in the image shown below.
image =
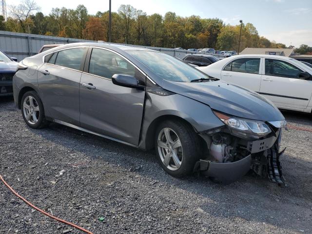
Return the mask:
<svg viewBox="0 0 312 234">
<path fill-rule="evenodd" d="M 84 54 L 86 50 L 87 48 L 73 48 L 61 50 L 59 51 L 58 56 L 55 60 L 55 65 L 79 70 L 82 59 L 84 59 Z"/>
</svg>

